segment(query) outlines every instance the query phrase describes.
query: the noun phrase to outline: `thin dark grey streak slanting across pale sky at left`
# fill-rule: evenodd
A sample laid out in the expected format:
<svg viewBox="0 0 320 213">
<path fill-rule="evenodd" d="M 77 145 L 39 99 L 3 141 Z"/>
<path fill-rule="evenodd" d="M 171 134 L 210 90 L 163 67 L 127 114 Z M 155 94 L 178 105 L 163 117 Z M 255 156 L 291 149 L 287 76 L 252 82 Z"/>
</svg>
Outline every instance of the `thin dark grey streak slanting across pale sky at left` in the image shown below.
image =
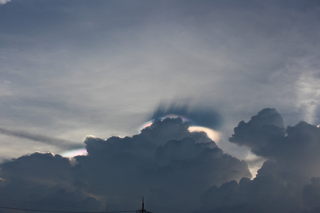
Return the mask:
<svg viewBox="0 0 320 213">
<path fill-rule="evenodd" d="M 4 135 L 18 137 L 18 138 L 27 138 L 33 141 L 38 141 L 41 143 L 45 143 L 45 144 L 49 144 L 49 145 L 57 146 L 61 148 L 76 149 L 76 148 L 83 147 L 82 145 L 76 144 L 75 142 L 72 142 L 72 141 L 63 140 L 60 138 L 48 137 L 45 135 L 32 134 L 25 131 L 12 131 L 12 130 L 0 128 L 0 133 Z"/>
</svg>

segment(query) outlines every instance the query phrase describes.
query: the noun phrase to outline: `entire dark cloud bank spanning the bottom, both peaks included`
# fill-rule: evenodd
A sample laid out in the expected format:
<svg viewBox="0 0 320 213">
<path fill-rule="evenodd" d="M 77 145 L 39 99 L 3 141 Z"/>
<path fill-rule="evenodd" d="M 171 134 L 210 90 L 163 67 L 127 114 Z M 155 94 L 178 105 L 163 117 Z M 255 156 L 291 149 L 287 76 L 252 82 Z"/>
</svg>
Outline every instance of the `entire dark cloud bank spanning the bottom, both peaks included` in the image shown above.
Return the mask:
<svg viewBox="0 0 320 213">
<path fill-rule="evenodd" d="M 132 137 L 87 137 L 88 155 L 74 159 L 35 152 L 2 163 L 4 181 L 29 185 L 0 182 L 1 198 L 28 201 L 10 201 L 18 208 L 65 211 L 138 210 L 144 196 L 148 205 L 171 208 L 146 206 L 155 213 L 319 212 L 320 128 L 306 122 L 285 127 L 267 108 L 234 132 L 230 142 L 268 159 L 253 180 L 246 162 L 224 154 L 206 133 L 167 118 Z"/>
</svg>

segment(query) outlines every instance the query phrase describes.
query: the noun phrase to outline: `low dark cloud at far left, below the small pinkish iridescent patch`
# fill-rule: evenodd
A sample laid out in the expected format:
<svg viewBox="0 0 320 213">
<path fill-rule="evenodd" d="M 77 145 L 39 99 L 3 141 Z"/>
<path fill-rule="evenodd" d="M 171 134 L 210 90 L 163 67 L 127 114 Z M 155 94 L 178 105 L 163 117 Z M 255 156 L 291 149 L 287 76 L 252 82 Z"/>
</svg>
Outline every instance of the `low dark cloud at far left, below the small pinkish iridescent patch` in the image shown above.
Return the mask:
<svg viewBox="0 0 320 213">
<path fill-rule="evenodd" d="M 88 196 L 87 193 L 28 185 L 34 184 L 59 188 L 72 188 L 70 186 L 70 179 L 72 179 L 73 167 L 68 158 L 63 158 L 58 154 L 53 155 L 52 153 L 35 152 L 30 155 L 21 156 L 11 162 L 2 163 L 1 168 L 1 178 L 4 181 L 23 184 L 0 182 L 2 194 L 0 197 L 1 206 L 24 209 L 54 208 L 56 210 L 65 211 L 66 209 L 79 210 L 79 208 L 41 204 L 49 203 L 64 206 L 99 208 L 99 203 L 94 198 Z M 40 204 L 29 202 L 37 202 Z M 92 211 L 92 209 L 86 210 Z"/>
</svg>

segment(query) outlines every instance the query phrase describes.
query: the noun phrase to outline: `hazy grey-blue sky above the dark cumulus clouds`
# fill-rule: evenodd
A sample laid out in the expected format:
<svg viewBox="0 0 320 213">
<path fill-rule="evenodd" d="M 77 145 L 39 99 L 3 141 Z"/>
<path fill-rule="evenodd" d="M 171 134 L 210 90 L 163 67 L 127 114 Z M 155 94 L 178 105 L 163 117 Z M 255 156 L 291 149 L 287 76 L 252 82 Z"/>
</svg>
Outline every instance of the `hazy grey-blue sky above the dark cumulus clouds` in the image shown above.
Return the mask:
<svg viewBox="0 0 320 213">
<path fill-rule="evenodd" d="M 263 108 L 320 123 L 319 22 L 318 1 L 2 0 L 1 161 L 138 134 L 172 102 L 248 159 L 228 138 Z"/>
</svg>

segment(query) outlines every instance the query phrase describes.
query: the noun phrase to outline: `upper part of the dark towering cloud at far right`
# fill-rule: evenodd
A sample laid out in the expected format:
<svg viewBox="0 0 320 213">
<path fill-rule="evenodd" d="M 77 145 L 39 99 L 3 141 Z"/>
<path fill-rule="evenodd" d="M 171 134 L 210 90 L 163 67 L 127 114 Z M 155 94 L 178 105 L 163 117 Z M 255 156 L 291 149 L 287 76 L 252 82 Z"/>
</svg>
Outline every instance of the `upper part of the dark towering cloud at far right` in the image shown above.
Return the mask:
<svg viewBox="0 0 320 213">
<path fill-rule="evenodd" d="M 284 128 L 283 123 L 275 109 L 263 109 L 249 122 L 241 121 L 229 141 L 248 146 L 254 154 L 274 160 L 285 170 L 297 169 L 308 180 L 318 175 L 313 166 L 320 163 L 320 128 L 303 121 Z M 294 177 L 297 175 L 290 178 Z"/>
</svg>

